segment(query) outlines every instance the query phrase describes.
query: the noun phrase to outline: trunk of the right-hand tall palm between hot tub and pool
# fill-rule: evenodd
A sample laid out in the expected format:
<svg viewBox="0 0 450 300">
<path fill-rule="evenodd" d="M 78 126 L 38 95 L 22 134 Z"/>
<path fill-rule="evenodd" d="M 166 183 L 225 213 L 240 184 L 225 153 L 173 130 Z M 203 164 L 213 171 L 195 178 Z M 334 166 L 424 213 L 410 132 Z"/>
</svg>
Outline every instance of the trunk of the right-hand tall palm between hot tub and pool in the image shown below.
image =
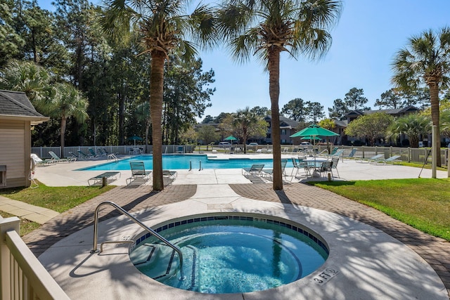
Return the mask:
<svg viewBox="0 0 450 300">
<path fill-rule="evenodd" d="M 283 174 L 281 174 L 281 140 L 280 140 L 280 50 L 276 47 L 269 50 L 269 96 L 271 102 L 271 136 L 274 155 L 274 190 L 283 190 Z"/>
</svg>

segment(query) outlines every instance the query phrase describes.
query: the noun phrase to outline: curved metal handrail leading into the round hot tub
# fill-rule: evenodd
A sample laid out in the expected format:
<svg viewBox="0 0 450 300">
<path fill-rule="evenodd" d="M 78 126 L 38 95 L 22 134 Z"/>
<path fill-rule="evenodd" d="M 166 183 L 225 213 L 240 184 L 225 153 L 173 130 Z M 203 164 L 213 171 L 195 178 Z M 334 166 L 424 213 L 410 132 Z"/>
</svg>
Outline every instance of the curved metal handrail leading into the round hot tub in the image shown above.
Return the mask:
<svg viewBox="0 0 450 300">
<path fill-rule="evenodd" d="M 139 226 L 141 226 L 142 228 L 144 228 L 146 231 L 148 231 L 149 233 L 151 233 L 152 235 L 154 235 L 155 237 L 158 238 L 158 240 L 160 240 L 161 242 L 167 244 L 167 246 L 171 247 L 172 249 L 174 249 L 174 251 L 176 253 L 178 253 L 178 257 L 180 259 L 180 278 L 179 280 L 186 280 L 186 276 L 184 276 L 184 272 L 183 272 L 183 254 L 181 253 L 181 249 L 179 249 L 179 247 L 176 247 L 174 244 L 172 244 L 171 242 L 169 242 L 168 240 L 165 239 L 165 237 L 162 237 L 161 235 L 159 235 L 158 233 L 156 233 L 155 230 L 153 230 L 152 228 L 149 228 L 148 226 L 146 226 L 144 223 L 142 223 L 141 221 L 139 221 L 138 219 L 134 218 L 134 216 L 131 216 L 131 214 L 128 213 L 128 211 L 122 209 L 122 207 L 120 207 L 119 205 L 115 204 L 114 202 L 110 202 L 110 201 L 105 201 L 105 202 L 101 202 L 101 204 L 97 205 L 96 211 L 94 213 L 94 247 L 91 250 L 91 253 L 96 253 L 98 252 L 97 250 L 97 237 L 98 237 L 98 211 L 100 210 L 100 207 L 102 207 L 103 205 L 110 205 L 112 207 L 114 207 L 115 209 L 117 209 L 118 211 L 120 211 L 122 214 L 124 214 L 125 216 L 127 216 L 129 219 L 131 219 L 131 221 L 134 221 L 134 223 L 138 224 Z M 127 241 L 107 241 L 107 242 L 102 242 L 100 245 L 100 252 L 103 252 L 103 244 L 111 244 L 111 243 L 132 243 L 134 241 L 132 240 L 127 240 Z"/>
</svg>

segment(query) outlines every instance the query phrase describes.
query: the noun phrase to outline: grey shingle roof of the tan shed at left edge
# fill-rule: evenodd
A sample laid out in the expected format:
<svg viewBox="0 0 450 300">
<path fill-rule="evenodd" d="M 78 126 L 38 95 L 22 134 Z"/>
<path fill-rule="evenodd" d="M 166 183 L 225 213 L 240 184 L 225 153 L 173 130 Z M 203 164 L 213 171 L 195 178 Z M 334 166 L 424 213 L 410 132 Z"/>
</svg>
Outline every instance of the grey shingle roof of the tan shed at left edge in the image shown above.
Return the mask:
<svg viewBox="0 0 450 300">
<path fill-rule="evenodd" d="M 34 109 L 25 93 L 4 90 L 0 90 L 0 117 L 30 119 L 34 124 L 49 120 Z"/>
</svg>

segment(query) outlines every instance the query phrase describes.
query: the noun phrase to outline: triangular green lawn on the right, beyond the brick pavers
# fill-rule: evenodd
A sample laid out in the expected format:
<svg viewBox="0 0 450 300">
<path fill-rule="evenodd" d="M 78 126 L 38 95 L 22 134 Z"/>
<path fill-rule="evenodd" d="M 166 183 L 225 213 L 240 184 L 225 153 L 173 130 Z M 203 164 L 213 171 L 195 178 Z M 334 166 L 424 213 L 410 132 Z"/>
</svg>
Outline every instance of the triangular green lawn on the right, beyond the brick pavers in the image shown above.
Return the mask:
<svg viewBox="0 0 450 300">
<path fill-rule="evenodd" d="M 389 179 L 311 183 L 374 207 L 403 223 L 450 241 L 450 180 Z"/>
</svg>

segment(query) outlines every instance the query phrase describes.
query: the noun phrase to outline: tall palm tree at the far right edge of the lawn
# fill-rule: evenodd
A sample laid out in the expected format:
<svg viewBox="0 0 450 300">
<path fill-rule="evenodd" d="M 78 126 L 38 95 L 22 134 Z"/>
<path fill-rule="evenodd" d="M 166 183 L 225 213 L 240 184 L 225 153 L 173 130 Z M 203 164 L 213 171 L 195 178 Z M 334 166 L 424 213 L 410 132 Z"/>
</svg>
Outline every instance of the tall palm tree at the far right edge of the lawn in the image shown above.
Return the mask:
<svg viewBox="0 0 450 300">
<path fill-rule="evenodd" d="M 411 37 L 406 48 L 399 50 L 392 63 L 392 81 L 404 91 L 416 90 L 420 84 L 430 89 L 432 124 L 439 135 L 439 89 L 449 85 L 450 28 L 444 27 L 437 34 L 427 30 Z M 432 136 L 432 158 L 441 165 L 441 141 Z M 433 165 L 435 165 L 433 164 Z"/>
</svg>

